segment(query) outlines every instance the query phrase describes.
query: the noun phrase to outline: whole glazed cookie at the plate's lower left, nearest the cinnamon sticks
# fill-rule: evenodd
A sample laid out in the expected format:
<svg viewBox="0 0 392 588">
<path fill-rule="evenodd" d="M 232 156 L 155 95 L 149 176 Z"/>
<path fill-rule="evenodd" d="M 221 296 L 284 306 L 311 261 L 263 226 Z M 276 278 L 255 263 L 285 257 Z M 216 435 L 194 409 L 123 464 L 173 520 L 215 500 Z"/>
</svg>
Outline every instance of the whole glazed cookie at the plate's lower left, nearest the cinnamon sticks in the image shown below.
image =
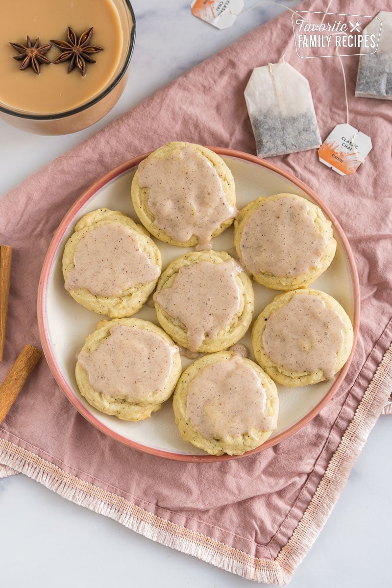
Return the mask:
<svg viewBox="0 0 392 588">
<path fill-rule="evenodd" d="M 179 349 L 148 320 L 102 320 L 76 363 L 81 395 L 122 420 L 149 419 L 172 395 L 181 373 Z"/>
</svg>

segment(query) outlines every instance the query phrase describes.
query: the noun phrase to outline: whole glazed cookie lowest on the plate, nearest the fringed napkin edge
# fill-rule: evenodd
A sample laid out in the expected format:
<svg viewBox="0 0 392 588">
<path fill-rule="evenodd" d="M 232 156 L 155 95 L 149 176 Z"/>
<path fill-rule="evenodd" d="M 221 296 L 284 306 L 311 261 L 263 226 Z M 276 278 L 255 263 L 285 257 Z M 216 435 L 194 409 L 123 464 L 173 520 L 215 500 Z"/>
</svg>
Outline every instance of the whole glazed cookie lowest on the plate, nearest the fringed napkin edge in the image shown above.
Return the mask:
<svg viewBox="0 0 392 588">
<path fill-rule="evenodd" d="M 183 372 L 173 410 L 183 440 L 211 455 L 242 455 L 276 429 L 279 399 L 257 363 L 223 351 L 197 359 Z"/>
</svg>

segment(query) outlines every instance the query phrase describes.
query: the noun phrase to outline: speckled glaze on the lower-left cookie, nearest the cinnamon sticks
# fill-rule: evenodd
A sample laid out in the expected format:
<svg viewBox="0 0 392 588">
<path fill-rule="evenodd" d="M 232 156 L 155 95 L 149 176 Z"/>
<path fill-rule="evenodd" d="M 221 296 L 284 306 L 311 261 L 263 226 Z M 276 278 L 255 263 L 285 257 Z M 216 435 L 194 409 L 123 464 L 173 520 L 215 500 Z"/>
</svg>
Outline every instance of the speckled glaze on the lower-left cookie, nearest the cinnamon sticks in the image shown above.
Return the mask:
<svg viewBox="0 0 392 588">
<path fill-rule="evenodd" d="M 78 362 L 97 392 L 139 402 L 163 389 L 177 352 L 157 333 L 115 325 L 92 353 L 82 349 Z"/>
</svg>

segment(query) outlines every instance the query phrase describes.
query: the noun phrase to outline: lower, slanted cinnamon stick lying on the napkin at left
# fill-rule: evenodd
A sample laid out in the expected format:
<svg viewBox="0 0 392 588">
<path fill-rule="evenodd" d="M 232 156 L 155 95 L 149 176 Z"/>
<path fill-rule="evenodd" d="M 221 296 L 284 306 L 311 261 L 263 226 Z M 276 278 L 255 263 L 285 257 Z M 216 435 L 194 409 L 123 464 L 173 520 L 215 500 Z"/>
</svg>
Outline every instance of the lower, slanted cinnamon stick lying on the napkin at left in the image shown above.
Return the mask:
<svg viewBox="0 0 392 588">
<path fill-rule="evenodd" d="M 14 404 L 41 355 L 39 349 L 32 345 L 25 345 L 8 375 L 5 376 L 5 380 L 0 386 L 0 423 Z"/>
</svg>

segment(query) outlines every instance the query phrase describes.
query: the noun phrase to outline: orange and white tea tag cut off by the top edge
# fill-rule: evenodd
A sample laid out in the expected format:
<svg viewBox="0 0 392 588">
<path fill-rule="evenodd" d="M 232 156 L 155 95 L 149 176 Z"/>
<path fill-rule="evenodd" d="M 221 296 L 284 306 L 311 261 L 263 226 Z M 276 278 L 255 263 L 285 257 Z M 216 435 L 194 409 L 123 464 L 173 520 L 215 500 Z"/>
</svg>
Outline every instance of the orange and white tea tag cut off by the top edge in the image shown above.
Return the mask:
<svg viewBox="0 0 392 588">
<path fill-rule="evenodd" d="M 232 26 L 243 7 L 244 0 L 192 0 L 190 3 L 194 16 L 217 29 Z"/>
</svg>

